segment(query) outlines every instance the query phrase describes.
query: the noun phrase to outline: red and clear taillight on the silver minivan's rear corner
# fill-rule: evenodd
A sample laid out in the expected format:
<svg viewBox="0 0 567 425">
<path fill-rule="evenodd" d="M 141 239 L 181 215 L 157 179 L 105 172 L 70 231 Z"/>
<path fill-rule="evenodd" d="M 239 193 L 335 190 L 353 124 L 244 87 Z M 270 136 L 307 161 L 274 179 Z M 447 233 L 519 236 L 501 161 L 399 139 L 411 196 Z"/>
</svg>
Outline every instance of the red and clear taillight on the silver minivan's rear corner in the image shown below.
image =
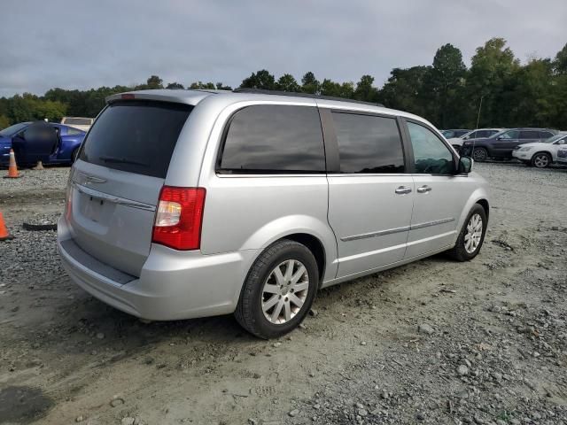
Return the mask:
<svg viewBox="0 0 567 425">
<path fill-rule="evenodd" d="M 151 242 L 175 250 L 198 250 L 205 193 L 204 188 L 164 186 L 159 193 Z"/>
</svg>

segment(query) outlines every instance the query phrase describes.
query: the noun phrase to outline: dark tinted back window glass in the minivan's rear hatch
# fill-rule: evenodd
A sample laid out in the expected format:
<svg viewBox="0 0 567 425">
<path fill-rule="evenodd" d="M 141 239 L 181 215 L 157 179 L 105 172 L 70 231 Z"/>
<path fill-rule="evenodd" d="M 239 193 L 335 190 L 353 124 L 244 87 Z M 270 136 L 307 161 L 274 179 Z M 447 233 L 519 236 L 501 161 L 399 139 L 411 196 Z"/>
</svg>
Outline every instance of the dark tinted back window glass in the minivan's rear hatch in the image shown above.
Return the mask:
<svg viewBox="0 0 567 425">
<path fill-rule="evenodd" d="M 193 106 L 129 100 L 110 104 L 90 128 L 79 158 L 98 166 L 165 178 Z"/>
</svg>

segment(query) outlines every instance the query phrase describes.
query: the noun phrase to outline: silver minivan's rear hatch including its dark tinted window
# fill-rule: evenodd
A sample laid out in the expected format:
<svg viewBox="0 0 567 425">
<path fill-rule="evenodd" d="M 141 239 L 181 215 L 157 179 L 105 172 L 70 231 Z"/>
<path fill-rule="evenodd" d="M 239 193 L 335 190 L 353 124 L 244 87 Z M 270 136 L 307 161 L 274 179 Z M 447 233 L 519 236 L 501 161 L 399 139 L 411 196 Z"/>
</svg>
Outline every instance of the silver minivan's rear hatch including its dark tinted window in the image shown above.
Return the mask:
<svg viewBox="0 0 567 425">
<path fill-rule="evenodd" d="M 154 100 L 109 104 L 75 162 L 66 220 L 99 261 L 140 275 L 151 248 L 159 191 L 193 106 Z"/>
</svg>

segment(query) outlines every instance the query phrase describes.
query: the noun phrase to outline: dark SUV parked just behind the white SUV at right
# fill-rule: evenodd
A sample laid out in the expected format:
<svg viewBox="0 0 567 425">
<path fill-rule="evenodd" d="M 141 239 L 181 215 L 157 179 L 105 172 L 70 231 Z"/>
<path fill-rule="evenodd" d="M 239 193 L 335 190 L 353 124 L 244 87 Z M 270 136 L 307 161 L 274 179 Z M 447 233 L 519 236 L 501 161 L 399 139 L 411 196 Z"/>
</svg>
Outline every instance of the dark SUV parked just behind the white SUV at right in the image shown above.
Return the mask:
<svg viewBox="0 0 567 425">
<path fill-rule="evenodd" d="M 462 143 L 462 154 L 475 161 L 487 158 L 512 158 L 512 151 L 523 143 L 541 142 L 556 135 L 549 128 L 509 128 L 485 139 L 470 139 Z"/>
</svg>

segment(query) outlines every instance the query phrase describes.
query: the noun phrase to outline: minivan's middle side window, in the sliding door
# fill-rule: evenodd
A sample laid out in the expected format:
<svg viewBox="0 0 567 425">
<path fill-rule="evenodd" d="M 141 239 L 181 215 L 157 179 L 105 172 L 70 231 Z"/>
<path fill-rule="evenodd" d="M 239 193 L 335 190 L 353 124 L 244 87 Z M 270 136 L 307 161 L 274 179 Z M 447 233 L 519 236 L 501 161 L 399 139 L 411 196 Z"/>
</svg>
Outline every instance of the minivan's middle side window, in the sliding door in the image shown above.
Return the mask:
<svg viewBox="0 0 567 425">
<path fill-rule="evenodd" d="M 394 118 L 333 112 L 341 173 L 403 173 L 404 154 Z"/>
</svg>

